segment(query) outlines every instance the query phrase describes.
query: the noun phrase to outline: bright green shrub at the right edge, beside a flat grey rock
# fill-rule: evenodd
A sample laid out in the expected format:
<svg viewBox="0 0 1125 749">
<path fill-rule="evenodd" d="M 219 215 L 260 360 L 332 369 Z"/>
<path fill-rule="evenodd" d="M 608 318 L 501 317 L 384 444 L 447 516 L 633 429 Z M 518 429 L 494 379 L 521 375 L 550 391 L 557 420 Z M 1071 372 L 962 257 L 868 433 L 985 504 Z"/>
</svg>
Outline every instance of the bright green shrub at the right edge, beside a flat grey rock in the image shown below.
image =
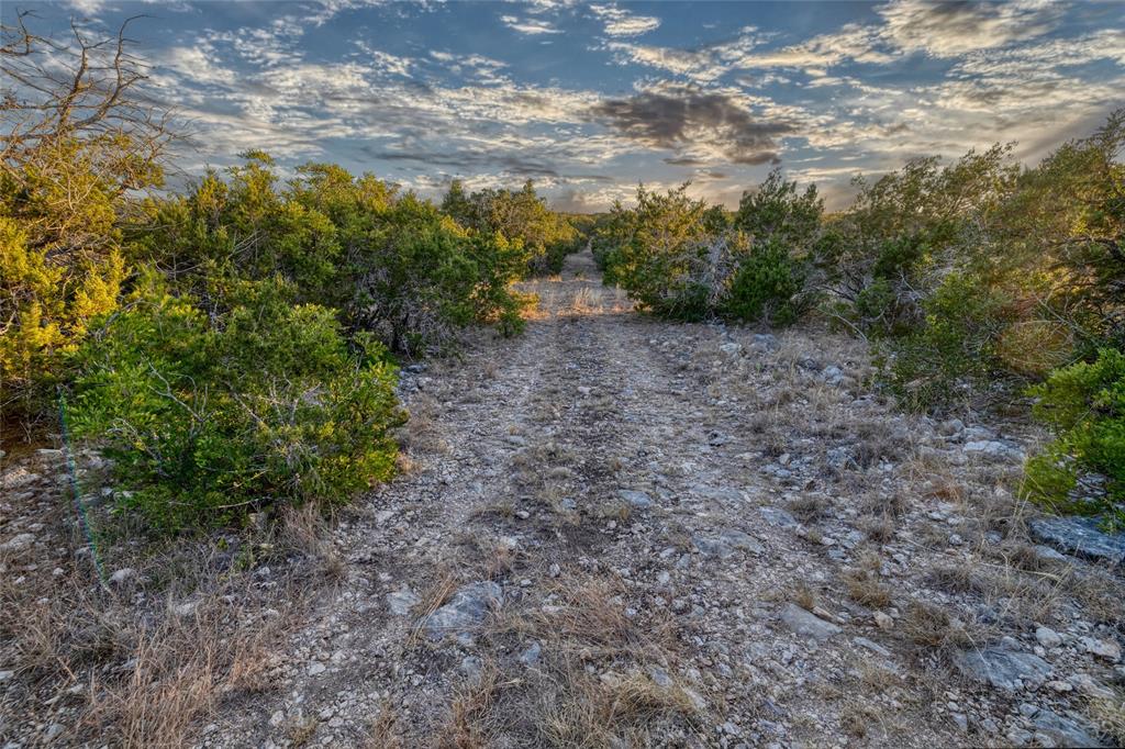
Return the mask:
<svg viewBox="0 0 1125 749">
<path fill-rule="evenodd" d="M 1102 349 L 1095 361 L 1053 372 L 1030 394 L 1038 398 L 1035 416 L 1055 441 L 1028 461 L 1027 495 L 1060 512 L 1106 514 L 1112 525 L 1125 525 L 1125 353 Z M 1101 496 L 1073 491 L 1083 473 L 1104 477 Z"/>
</svg>

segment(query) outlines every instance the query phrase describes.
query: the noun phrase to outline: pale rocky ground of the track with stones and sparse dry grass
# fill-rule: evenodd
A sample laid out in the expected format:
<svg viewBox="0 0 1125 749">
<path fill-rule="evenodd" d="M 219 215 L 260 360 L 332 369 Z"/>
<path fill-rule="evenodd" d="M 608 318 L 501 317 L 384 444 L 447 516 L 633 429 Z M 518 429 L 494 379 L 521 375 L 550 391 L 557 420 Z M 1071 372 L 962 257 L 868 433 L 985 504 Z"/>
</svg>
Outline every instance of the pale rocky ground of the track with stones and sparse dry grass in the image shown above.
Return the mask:
<svg viewBox="0 0 1125 749">
<path fill-rule="evenodd" d="M 1044 524 L 1015 500 L 1037 434 L 901 415 L 871 395 L 850 339 L 636 315 L 588 254 L 528 290 L 541 304 L 524 335 L 482 335 L 462 359 L 404 374 L 406 472 L 308 531 L 317 570 L 251 561 L 240 595 L 256 603 L 223 593 L 219 620 L 285 626 L 254 641 L 253 678 L 227 679 L 184 736 L 205 747 L 1125 738 L 1125 544 L 1078 538 L 1082 527 Z M 29 469 L 9 468 L 9 485 L 15 470 Z M 20 552 L 9 580 L 47 574 L 20 568 L 51 545 L 44 522 L 26 512 L 0 527 Z M 169 598 L 173 614 L 206 619 L 187 598 Z M 65 698 L 21 721 L 14 711 L 51 692 L 20 664 L 0 660 L 0 738 L 89 736 L 60 713 Z"/>
</svg>

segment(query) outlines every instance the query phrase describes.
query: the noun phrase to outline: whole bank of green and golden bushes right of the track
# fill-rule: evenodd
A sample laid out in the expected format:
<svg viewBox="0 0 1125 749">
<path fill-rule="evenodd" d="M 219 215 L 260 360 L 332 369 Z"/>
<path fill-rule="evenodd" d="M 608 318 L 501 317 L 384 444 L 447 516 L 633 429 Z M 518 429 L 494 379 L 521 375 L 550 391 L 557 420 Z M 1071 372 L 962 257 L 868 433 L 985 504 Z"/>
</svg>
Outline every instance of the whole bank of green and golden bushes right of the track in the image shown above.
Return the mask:
<svg viewBox="0 0 1125 749">
<path fill-rule="evenodd" d="M 1119 516 L 1123 145 L 1125 110 L 1034 169 L 1001 145 L 945 166 L 916 159 L 857 179 L 853 205 L 827 217 L 814 188 L 776 170 L 731 217 L 686 186 L 642 186 L 634 207 L 598 223 L 593 247 L 606 282 L 656 315 L 788 324 L 816 313 L 864 336 L 881 386 L 910 410 L 1026 392 L 1058 434 L 1028 466 L 1029 494 Z M 1076 494 L 1086 475 L 1102 489 Z"/>
</svg>

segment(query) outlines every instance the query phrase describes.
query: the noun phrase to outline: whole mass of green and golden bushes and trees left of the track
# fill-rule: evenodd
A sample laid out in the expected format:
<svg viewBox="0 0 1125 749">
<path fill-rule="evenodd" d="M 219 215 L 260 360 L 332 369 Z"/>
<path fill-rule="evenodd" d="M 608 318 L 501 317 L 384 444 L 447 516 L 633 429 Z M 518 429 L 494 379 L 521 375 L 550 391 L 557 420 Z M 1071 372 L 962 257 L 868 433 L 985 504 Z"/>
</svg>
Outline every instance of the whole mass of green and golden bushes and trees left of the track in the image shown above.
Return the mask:
<svg viewBox="0 0 1125 749">
<path fill-rule="evenodd" d="M 530 299 L 512 282 L 579 237 L 530 183 L 454 189 L 443 211 L 334 164 L 282 180 L 258 151 L 150 192 L 169 120 L 135 92 L 124 29 L 70 47 L 4 35 L 3 416 L 32 433 L 65 398 L 74 435 L 111 458 L 114 511 L 155 533 L 387 479 L 395 362 L 468 325 L 518 333 Z"/>
</svg>

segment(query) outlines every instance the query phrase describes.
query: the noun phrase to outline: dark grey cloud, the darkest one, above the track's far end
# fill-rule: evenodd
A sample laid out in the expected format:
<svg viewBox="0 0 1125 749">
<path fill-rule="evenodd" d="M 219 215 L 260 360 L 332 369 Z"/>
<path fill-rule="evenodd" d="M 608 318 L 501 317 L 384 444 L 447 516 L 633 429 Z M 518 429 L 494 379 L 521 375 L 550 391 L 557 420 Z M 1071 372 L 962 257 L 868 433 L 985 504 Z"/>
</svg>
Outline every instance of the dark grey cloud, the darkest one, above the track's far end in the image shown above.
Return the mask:
<svg viewBox="0 0 1125 749">
<path fill-rule="evenodd" d="M 728 92 L 683 85 L 606 99 L 591 115 L 645 146 L 702 152 L 736 164 L 777 162 L 775 138 L 795 130 L 792 123 L 756 120 Z"/>
</svg>

